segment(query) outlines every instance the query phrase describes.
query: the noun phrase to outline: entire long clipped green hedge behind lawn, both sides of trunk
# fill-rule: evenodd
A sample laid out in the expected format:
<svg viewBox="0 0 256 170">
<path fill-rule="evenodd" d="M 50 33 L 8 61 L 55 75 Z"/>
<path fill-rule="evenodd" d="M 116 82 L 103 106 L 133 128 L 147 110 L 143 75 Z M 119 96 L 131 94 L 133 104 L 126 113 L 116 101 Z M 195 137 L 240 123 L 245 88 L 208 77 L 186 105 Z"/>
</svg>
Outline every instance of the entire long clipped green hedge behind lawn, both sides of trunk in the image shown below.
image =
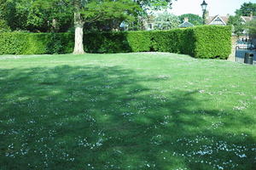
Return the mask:
<svg viewBox="0 0 256 170">
<path fill-rule="evenodd" d="M 70 33 L 0 33 L 0 54 L 67 54 L 73 51 Z M 195 26 L 171 31 L 85 32 L 87 53 L 170 52 L 195 58 L 227 59 L 230 26 Z"/>
</svg>

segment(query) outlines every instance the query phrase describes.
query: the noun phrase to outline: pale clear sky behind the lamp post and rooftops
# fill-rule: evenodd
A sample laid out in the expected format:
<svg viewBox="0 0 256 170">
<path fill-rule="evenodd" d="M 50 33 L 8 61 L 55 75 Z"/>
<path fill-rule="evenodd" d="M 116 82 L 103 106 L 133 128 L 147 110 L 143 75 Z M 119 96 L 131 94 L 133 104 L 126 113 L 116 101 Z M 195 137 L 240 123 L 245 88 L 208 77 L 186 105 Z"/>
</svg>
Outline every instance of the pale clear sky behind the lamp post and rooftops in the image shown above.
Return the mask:
<svg viewBox="0 0 256 170">
<path fill-rule="evenodd" d="M 208 3 L 207 10 L 209 15 L 226 15 L 235 14 L 237 8 L 241 7 L 242 3 L 256 3 L 256 0 L 205 0 Z M 173 0 L 171 13 L 176 15 L 181 14 L 202 14 L 201 3 L 203 0 Z"/>
</svg>

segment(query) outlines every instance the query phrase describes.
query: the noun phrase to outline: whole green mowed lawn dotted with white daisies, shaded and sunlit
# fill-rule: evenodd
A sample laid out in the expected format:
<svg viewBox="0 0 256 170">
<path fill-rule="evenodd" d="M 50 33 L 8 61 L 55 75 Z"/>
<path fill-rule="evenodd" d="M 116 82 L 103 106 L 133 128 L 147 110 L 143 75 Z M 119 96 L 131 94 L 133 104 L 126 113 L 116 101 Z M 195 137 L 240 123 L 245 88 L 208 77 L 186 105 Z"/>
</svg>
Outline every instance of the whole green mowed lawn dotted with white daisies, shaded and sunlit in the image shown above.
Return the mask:
<svg viewBox="0 0 256 170">
<path fill-rule="evenodd" d="M 0 56 L 0 169 L 256 169 L 256 66 Z"/>
</svg>

